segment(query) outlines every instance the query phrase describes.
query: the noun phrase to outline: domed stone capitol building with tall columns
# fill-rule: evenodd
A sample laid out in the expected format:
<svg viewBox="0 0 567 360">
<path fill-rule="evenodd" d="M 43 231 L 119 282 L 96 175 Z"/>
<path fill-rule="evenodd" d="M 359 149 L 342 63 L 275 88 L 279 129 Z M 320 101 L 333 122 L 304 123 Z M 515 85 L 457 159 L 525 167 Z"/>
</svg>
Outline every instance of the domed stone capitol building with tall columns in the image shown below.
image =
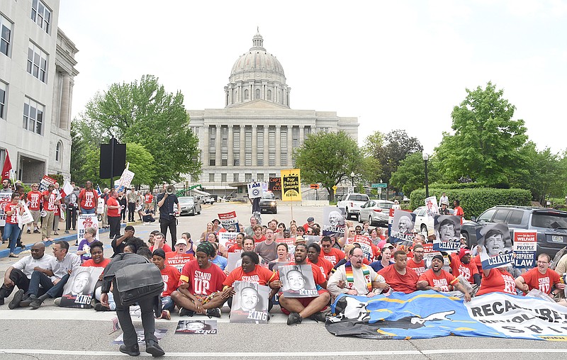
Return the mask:
<svg viewBox="0 0 567 360">
<path fill-rule="evenodd" d="M 189 181 L 209 193 L 225 196 L 253 179 L 280 176 L 281 169 L 293 168 L 293 149 L 310 133 L 343 130 L 358 141 L 358 118 L 291 108 L 283 67 L 259 33 L 228 79 L 224 108 L 188 111 L 203 164 L 199 179 Z"/>
</svg>

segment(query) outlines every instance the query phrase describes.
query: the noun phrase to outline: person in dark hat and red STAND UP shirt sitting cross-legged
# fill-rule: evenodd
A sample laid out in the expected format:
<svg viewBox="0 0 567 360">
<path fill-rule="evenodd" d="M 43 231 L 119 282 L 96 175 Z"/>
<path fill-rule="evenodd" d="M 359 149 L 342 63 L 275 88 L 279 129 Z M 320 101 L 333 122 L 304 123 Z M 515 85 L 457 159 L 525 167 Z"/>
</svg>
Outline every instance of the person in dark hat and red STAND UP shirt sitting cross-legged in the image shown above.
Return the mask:
<svg viewBox="0 0 567 360">
<path fill-rule="evenodd" d="M 220 317 L 220 307 L 228 296 L 223 295 L 225 273 L 210 262 L 216 249 L 210 242 L 201 242 L 195 252 L 196 260 L 189 261 L 181 270 L 181 283 L 172 299 L 181 309 L 180 316 L 194 313 Z"/>
</svg>

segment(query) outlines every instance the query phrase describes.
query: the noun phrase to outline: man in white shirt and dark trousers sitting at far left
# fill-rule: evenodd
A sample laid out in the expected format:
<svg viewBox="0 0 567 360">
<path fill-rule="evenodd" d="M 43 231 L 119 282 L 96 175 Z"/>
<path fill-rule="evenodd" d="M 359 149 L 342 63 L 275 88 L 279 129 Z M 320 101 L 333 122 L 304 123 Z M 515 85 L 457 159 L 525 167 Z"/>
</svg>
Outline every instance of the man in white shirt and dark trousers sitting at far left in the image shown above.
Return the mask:
<svg viewBox="0 0 567 360">
<path fill-rule="evenodd" d="M 45 254 L 45 244 L 36 242 L 31 247 L 31 254 L 19 259 L 12 266 L 9 266 L 4 273 L 4 282 L 0 287 L 0 305 L 4 305 L 4 298 L 12 293 L 13 289 L 18 287 L 18 298 L 16 294 L 13 305 L 9 305 L 10 309 L 16 308 L 23 299 L 24 294 L 30 287 L 30 279 L 33 271 L 43 271 L 44 274 L 52 274 L 52 266 L 54 257 Z"/>
</svg>

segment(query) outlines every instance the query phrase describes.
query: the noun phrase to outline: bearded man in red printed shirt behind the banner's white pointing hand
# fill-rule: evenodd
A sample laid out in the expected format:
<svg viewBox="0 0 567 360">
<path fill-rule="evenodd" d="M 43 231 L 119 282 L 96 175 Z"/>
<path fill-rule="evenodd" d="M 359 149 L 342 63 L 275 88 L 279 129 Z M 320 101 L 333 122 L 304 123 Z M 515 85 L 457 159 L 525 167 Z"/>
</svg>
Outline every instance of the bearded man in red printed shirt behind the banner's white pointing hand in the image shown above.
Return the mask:
<svg viewBox="0 0 567 360">
<path fill-rule="evenodd" d="M 471 294 L 456 279 L 455 276 L 443 270 L 443 256 L 437 254 L 431 261 L 431 269 L 425 271 L 417 281 L 417 290 L 434 290 L 443 293 L 452 293 L 454 296 L 464 296 L 465 301 L 471 301 Z M 460 293 L 455 293 L 453 288 Z"/>
</svg>

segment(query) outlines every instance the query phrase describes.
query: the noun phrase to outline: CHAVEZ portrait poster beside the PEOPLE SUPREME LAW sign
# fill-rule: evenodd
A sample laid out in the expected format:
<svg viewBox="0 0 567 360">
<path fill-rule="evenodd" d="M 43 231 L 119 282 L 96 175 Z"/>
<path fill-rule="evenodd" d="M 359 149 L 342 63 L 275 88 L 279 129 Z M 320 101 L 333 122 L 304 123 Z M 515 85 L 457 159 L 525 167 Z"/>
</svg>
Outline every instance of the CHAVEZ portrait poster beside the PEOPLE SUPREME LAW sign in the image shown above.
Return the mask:
<svg viewBox="0 0 567 360">
<path fill-rule="evenodd" d="M 477 227 L 476 239 L 481 248 L 483 269 L 506 267 L 514 262 L 512 239 L 506 223 Z"/>
</svg>

